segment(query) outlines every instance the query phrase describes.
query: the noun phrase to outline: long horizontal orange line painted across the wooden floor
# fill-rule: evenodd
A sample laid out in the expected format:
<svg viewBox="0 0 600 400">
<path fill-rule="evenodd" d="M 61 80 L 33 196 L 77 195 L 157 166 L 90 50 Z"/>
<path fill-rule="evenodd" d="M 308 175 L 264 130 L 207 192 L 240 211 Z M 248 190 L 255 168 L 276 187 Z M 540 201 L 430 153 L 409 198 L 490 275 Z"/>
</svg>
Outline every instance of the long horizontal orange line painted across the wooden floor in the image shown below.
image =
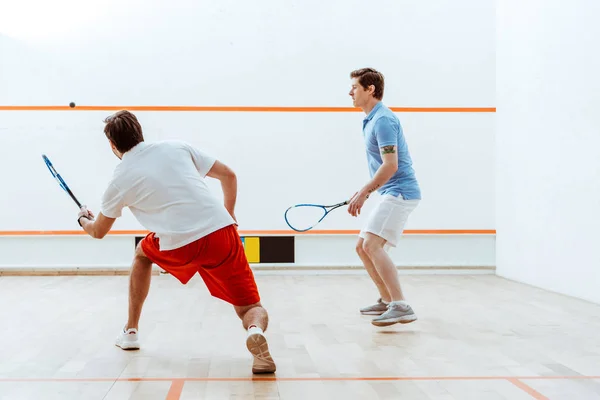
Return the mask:
<svg viewBox="0 0 600 400">
<path fill-rule="evenodd" d="M 0 382 L 250 382 L 250 381 L 512 381 L 521 380 L 589 380 L 600 379 L 599 376 L 331 376 L 331 377 L 188 377 L 188 378 L 0 378 Z M 533 389 L 532 389 L 533 390 Z"/>
</svg>

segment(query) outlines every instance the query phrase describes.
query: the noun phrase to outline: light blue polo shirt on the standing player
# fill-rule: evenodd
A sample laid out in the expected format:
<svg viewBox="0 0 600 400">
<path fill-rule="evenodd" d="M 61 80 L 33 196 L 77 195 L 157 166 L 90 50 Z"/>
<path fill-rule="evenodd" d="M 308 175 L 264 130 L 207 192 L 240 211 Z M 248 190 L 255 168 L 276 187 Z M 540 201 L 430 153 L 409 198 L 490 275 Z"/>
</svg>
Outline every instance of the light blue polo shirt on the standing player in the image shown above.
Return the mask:
<svg viewBox="0 0 600 400">
<path fill-rule="evenodd" d="M 363 120 L 363 136 L 371 178 L 383 164 L 381 147 L 394 145 L 398 155 L 398 170 L 377 191 L 381 194 L 401 195 L 404 200 L 421 199 L 421 189 L 412 167 L 408 145 L 402 133 L 400 120 L 382 102 Z"/>
</svg>

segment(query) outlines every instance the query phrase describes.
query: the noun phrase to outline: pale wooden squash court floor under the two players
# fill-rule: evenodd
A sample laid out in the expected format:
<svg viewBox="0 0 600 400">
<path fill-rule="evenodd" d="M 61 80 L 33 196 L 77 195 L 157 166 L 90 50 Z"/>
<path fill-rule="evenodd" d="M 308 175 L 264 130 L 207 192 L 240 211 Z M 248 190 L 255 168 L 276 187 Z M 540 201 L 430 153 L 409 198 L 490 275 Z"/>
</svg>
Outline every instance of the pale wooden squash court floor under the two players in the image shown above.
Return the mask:
<svg viewBox="0 0 600 400">
<path fill-rule="evenodd" d="M 142 349 L 125 276 L 0 277 L 0 399 L 600 399 L 600 306 L 493 275 L 406 275 L 419 320 L 377 328 L 365 276 L 257 276 L 277 374 L 196 276 L 153 276 Z"/>
</svg>

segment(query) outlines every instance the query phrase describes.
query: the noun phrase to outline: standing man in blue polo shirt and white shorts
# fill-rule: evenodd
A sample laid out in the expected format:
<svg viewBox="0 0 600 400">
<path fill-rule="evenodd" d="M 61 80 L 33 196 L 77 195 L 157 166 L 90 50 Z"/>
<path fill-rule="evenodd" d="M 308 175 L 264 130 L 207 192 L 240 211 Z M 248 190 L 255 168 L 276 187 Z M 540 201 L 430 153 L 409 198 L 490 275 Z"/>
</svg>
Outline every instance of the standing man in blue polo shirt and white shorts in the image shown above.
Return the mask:
<svg viewBox="0 0 600 400">
<path fill-rule="evenodd" d="M 398 271 L 386 252 L 395 247 L 409 215 L 421 200 L 421 190 L 412 167 L 408 146 L 398 117 L 382 103 L 383 75 L 363 68 L 350 74 L 350 96 L 361 108 L 363 135 L 371 180 L 351 199 L 348 212 L 357 216 L 371 193 L 377 191 L 380 202 L 359 234 L 356 251 L 379 290 L 377 303 L 360 312 L 378 315 L 376 326 L 416 321 L 412 307 L 406 302 Z"/>
</svg>

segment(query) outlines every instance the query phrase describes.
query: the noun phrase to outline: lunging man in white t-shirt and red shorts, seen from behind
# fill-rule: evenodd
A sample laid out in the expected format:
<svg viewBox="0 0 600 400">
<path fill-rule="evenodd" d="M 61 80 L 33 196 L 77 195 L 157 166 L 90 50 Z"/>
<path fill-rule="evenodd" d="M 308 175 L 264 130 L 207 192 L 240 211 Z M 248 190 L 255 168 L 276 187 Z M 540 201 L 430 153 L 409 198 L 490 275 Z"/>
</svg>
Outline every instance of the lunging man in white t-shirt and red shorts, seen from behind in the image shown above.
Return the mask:
<svg viewBox="0 0 600 400">
<path fill-rule="evenodd" d="M 237 178 L 225 164 L 181 141 L 144 142 L 132 113 L 105 121 L 104 133 L 121 160 L 102 197 L 98 218 L 82 207 L 78 222 L 94 238 L 104 237 L 124 207 L 150 233 L 138 244 L 129 286 L 129 320 L 116 345 L 139 349 L 138 323 L 150 289 L 152 264 L 186 284 L 200 274 L 211 295 L 233 305 L 247 330 L 253 373 L 275 372 L 264 331 L 254 275 L 237 232 Z M 224 203 L 211 195 L 205 177 L 221 181 Z"/>
</svg>

